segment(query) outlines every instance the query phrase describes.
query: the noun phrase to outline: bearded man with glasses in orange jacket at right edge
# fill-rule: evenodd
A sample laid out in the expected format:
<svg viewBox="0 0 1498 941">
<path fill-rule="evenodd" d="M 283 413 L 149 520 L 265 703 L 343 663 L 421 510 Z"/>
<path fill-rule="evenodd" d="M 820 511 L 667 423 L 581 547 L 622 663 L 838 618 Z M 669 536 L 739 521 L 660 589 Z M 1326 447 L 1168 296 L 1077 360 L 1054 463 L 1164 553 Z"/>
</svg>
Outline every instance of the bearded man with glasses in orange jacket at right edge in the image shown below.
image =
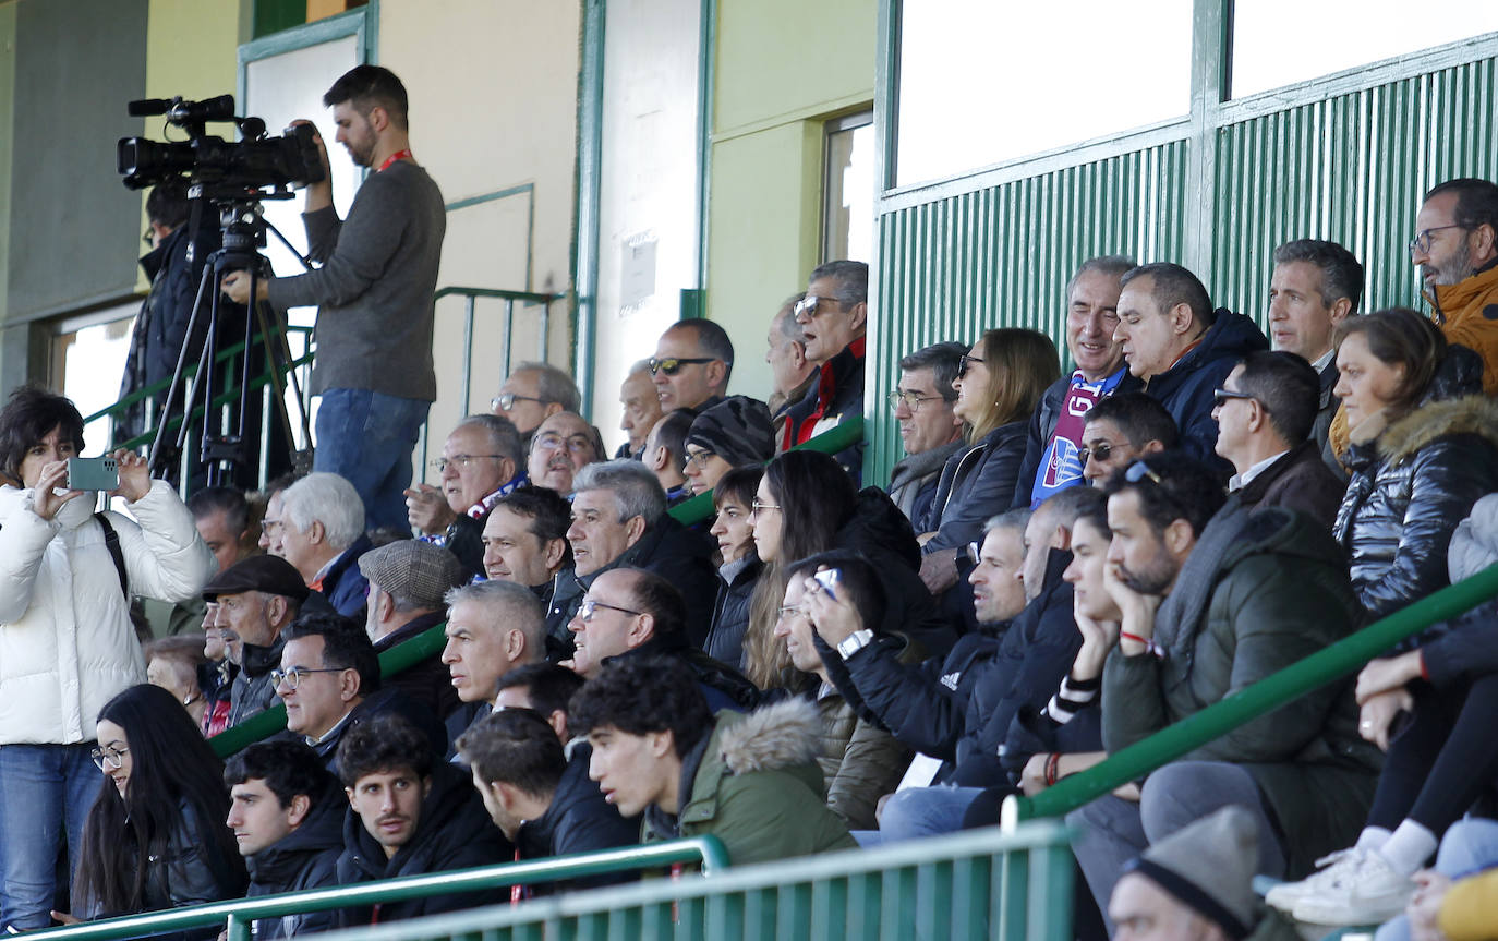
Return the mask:
<svg viewBox="0 0 1498 941">
<path fill-rule="evenodd" d="M 1410 261 L 1447 342 L 1483 358 L 1483 391 L 1498 396 L 1498 186 L 1449 180 L 1414 219 Z"/>
</svg>

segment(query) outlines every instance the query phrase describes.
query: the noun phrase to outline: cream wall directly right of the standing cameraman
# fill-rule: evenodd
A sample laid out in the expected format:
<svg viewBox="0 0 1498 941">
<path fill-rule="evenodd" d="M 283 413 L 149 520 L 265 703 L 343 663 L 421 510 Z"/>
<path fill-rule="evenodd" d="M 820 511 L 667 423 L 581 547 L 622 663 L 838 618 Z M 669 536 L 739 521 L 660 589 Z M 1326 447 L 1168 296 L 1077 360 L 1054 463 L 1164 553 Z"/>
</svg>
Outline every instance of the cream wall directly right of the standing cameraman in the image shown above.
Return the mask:
<svg viewBox="0 0 1498 941">
<path fill-rule="evenodd" d="M 577 0 L 380 0 L 376 60 L 406 82 L 412 150 L 452 204 L 530 184 L 532 195 L 448 214 L 439 286 L 569 291 L 577 162 Z M 529 225 L 529 199 L 535 223 Z M 526 268 L 527 241 L 532 264 Z M 470 411 L 488 411 L 505 369 L 497 301 L 479 301 Z M 568 303 L 551 307 L 551 363 L 569 363 Z M 514 360 L 536 354 L 517 307 Z M 460 417 L 463 303 L 437 304 L 434 447 Z M 418 470 L 419 473 L 419 470 Z"/>
</svg>

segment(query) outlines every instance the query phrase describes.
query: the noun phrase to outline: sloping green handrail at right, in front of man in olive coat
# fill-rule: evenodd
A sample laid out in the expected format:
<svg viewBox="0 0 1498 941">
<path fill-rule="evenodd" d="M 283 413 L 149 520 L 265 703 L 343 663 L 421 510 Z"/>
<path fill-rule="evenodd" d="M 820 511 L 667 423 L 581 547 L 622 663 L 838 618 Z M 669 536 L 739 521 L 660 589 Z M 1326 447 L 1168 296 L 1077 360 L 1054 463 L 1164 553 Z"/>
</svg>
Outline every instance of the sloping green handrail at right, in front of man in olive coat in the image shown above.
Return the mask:
<svg viewBox="0 0 1498 941">
<path fill-rule="evenodd" d="M 1450 620 L 1495 596 L 1498 596 L 1498 565 L 1401 608 L 1362 631 L 1239 689 L 1222 701 L 1135 742 L 1110 755 L 1106 761 L 1065 778 L 1034 797 L 1010 797 L 1004 803 L 1005 826 L 1035 817 L 1059 817 L 1074 811 L 1092 799 L 1101 797 L 1122 784 L 1137 781 L 1162 764 L 1233 731 L 1239 725 L 1354 673 L 1398 641 L 1413 637 L 1434 623 Z"/>
</svg>

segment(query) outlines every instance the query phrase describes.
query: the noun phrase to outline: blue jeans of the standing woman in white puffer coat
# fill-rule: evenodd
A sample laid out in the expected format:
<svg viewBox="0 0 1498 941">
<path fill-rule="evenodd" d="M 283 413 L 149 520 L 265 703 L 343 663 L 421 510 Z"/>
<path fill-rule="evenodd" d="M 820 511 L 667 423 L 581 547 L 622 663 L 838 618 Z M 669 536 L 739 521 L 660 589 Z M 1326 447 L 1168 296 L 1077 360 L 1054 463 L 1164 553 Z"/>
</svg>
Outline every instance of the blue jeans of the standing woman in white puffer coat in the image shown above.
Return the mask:
<svg viewBox="0 0 1498 941">
<path fill-rule="evenodd" d="M 57 850 L 78 866 L 84 820 L 108 781 L 84 745 L 0 745 L 0 925 L 46 928 L 57 895 Z"/>
</svg>

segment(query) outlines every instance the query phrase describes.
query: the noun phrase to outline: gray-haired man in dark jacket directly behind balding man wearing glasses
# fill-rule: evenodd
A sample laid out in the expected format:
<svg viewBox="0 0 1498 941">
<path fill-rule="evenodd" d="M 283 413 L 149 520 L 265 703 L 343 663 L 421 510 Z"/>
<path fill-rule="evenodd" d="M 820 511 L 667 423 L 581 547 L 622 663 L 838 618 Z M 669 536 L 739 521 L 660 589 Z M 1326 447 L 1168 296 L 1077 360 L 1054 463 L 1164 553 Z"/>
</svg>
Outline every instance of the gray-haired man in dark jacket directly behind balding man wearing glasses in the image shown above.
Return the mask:
<svg viewBox="0 0 1498 941">
<path fill-rule="evenodd" d="M 563 647 L 566 625 L 599 574 L 643 568 L 671 580 L 686 599 L 689 643 L 701 646 L 713 616 L 718 578 L 707 538 L 667 512 L 665 493 L 638 462 L 611 460 L 584 468 L 572 494 L 572 568 L 557 575 L 547 631 Z"/>
</svg>

